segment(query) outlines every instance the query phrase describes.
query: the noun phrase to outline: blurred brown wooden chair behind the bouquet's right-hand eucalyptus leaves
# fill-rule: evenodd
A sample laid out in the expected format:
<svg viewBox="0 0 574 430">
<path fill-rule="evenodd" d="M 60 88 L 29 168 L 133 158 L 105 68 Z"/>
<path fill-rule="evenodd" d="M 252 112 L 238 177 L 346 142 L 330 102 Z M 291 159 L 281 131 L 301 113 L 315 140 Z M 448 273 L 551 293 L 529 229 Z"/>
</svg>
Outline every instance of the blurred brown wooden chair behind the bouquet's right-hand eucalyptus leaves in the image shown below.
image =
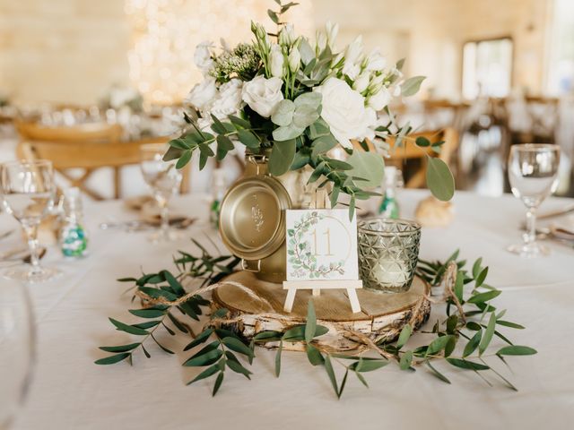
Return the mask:
<svg viewBox="0 0 574 430">
<path fill-rule="evenodd" d="M 431 147 L 421 148 L 414 142 L 417 137 L 426 137 L 431 143 L 444 141 L 440 154 Z M 403 142 L 396 147 L 395 140 L 390 140 L 390 157 L 385 164 L 396 166 L 404 171 L 404 186 L 407 188 L 422 188 L 426 183 L 426 156 L 438 157 L 448 166 L 453 164 L 458 148 L 458 133 L 454 128 L 438 131 L 413 133 L 407 135 Z M 414 166 L 410 166 L 414 164 Z"/>
</svg>

